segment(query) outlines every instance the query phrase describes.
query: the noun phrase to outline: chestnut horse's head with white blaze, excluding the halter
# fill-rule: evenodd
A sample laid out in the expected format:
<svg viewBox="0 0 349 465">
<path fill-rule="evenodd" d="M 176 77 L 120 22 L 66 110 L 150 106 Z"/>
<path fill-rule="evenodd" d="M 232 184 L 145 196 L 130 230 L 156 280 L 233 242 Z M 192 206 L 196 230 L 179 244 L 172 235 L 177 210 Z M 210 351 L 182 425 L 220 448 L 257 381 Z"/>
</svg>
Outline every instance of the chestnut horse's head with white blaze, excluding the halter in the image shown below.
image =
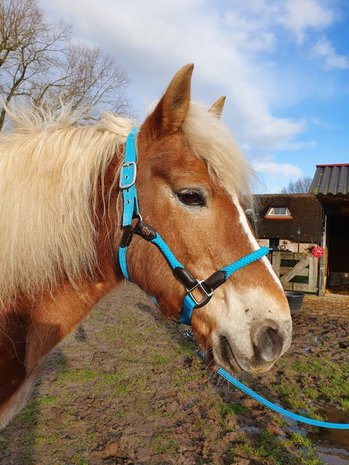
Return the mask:
<svg viewBox="0 0 349 465">
<path fill-rule="evenodd" d="M 252 254 L 254 238 L 241 198 L 248 165 L 219 120 L 224 98 L 208 111 L 190 101 L 193 66 L 172 79 L 137 136 L 137 191 L 142 219 L 158 231 L 190 275 L 204 280 Z M 132 281 L 178 319 L 185 290 L 163 254 L 135 236 L 127 255 Z M 197 342 L 218 365 L 268 370 L 290 345 L 284 291 L 267 258 L 254 261 L 193 311 Z"/>
</svg>

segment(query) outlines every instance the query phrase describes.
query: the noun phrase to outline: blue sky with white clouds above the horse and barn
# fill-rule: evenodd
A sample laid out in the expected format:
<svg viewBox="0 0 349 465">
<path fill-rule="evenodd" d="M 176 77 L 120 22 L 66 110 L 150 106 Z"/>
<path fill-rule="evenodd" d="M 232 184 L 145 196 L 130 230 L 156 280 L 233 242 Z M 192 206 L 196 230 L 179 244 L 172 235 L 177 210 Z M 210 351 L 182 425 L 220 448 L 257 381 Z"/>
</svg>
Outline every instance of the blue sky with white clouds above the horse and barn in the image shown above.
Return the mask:
<svg viewBox="0 0 349 465">
<path fill-rule="evenodd" d="M 192 98 L 226 95 L 222 120 L 275 193 L 316 164 L 349 162 L 348 0 L 41 0 L 50 21 L 126 71 L 133 113 L 183 65 Z"/>
</svg>

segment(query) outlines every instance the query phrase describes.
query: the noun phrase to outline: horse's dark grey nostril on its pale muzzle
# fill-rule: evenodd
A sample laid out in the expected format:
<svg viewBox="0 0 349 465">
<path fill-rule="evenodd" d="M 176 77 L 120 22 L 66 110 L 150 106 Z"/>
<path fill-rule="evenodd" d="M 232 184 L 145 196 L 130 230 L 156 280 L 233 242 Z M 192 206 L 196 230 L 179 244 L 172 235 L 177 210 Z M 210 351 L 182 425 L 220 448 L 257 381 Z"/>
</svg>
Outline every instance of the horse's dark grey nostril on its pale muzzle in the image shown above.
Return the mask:
<svg viewBox="0 0 349 465">
<path fill-rule="evenodd" d="M 263 326 L 255 331 L 253 342 L 257 358 L 272 362 L 281 354 L 284 338 L 275 327 Z"/>
</svg>

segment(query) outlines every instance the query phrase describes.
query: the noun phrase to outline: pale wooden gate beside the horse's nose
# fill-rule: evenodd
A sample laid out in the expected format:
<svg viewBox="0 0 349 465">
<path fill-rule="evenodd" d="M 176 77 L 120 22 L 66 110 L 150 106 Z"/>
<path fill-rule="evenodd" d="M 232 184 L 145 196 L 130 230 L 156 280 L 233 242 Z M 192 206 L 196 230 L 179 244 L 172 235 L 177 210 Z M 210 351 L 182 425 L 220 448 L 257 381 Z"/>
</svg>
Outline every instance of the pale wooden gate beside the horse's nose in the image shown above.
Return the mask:
<svg viewBox="0 0 349 465">
<path fill-rule="evenodd" d="M 274 250 L 271 263 L 287 291 L 318 291 L 318 259 L 310 253 Z"/>
</svg>

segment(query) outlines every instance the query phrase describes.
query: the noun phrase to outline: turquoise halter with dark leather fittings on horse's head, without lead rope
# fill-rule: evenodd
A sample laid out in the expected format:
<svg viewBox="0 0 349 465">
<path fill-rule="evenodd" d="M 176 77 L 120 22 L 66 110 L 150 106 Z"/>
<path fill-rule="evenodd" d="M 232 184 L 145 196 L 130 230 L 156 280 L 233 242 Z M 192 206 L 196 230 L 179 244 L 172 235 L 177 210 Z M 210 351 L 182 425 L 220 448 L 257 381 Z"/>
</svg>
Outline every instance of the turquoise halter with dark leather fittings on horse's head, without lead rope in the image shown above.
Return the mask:
<svg viewBox="0 0 349 465">
<path fill-rule="evenodd" d="M 119 245 L 119 265 L 124 277 L 131 281 L 127 268 L 127 249 L 131 243 L 133 234 L 152 242 L 160 250 L 170 266 L 174 277 L 183 284 L 186 295 L 183 300 L 182 311 L 179 322 L 190 325 L 193 310 L 203 307 L 211 299 L 213 292 L 221 286 L 236 271 L 261 259 L 269 253 L 268 247 L 262 247 L 254 252 L 230 263 L 230 265 L 215 271 L 205 280 L 196 279 L 175 257 L 169 246 L 160 234 L 151 226 L 144 223 L 139 211 L 136 177 L 137 177 L 137 150 L 136 150 L 137 128 L 133 128 L 126 140 L 125 159 L 121 167 L 119 187 L 123 196 L 122 213 L 122 238 Z M 136 225 L 132 226 L 132 220 L 137 219 Z M 195 295 L 194 295 L 195 293 Z M 153 298 L 156 301 L 156 299 Z"/>
</svg>

